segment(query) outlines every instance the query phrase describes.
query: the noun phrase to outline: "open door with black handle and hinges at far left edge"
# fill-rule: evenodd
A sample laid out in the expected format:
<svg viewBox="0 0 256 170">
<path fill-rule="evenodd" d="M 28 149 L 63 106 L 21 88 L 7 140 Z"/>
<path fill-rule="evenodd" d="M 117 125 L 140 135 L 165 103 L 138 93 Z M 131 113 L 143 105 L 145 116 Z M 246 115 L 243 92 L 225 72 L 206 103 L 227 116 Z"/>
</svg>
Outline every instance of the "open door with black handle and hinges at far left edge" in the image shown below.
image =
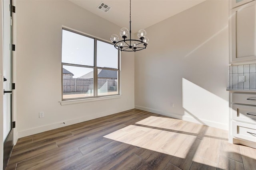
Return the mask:
<svg viewBox="0 0 256 170">
<path fill-rule="evenodd" d="M 3 0 L 3 52 L 4 52 L 4 99 L 3 99 L 3 130 L 4 130 L 4 167 L 6 168 L 8 159 L 13 148 L 12 131 L 12 12 L 11 1 Z"/>
</svg>

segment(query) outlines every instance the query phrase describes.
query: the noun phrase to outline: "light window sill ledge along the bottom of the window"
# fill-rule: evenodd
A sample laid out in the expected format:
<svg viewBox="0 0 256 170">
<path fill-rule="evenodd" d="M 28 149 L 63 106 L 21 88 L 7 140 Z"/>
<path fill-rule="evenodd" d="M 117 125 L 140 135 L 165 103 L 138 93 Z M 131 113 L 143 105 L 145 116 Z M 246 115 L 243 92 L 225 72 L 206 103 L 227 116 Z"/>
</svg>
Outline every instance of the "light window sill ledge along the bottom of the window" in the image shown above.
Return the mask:
<svg viewBox="0 0 256 170">
<path fill-rule="evenodd" d="M 78 103 L 84 103 L 84 102 L 94 102 L 99 100 L 108 100 L 108 99 L 116 99 L 121 98 L 121 95 L 116 96 L 104 96 L 104 97 L 98 97 L 98 98 L 88 98 L 88 99 L 77 99 L 77 100 L 64 100 L 59 102 L 61 106 L 68 105 L 68 104 L 78 104 Z"/>
</svg>

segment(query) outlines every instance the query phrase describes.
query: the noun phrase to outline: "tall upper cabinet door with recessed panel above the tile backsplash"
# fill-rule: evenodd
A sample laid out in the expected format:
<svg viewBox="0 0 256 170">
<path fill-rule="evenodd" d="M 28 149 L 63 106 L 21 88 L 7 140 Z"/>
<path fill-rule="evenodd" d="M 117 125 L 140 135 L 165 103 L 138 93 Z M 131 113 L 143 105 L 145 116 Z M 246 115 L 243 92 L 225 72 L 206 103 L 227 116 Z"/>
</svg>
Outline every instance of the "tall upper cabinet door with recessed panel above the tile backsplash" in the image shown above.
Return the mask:
<svg viewBox="0 0 256 170">
<path fill-rule="evenodd" d="M 231 63 L 256 60 L 256 1 L 232 10 Z"/>
</svg>

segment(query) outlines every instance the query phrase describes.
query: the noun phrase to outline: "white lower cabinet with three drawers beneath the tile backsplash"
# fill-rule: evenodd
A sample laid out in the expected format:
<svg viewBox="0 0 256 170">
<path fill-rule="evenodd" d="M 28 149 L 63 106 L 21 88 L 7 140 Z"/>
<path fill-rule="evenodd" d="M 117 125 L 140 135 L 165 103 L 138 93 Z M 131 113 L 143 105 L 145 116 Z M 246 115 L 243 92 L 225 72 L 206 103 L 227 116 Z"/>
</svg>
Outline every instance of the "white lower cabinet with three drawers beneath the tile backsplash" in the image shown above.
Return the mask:
<svg viewBox="0 0 256 170">
<path fill-rule="evenodd" d="M 256 92 L 233 92 L 231 102 L 229 141 L 256 148 Z"/>
</svg>

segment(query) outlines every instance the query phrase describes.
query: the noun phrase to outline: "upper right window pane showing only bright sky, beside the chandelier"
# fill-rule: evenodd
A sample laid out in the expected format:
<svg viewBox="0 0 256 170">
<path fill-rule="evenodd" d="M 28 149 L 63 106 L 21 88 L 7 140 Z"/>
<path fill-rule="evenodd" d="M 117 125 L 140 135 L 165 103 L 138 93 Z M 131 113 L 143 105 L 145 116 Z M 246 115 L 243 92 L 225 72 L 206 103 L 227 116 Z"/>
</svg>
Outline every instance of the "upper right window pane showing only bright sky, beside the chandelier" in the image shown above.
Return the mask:
<svg viewBox="0 0 256 170">
<path fill-rule="evenodd" d="M 97 66 L 118 68 L 118 50 L 109 43 L 97 41 Z"/>
</svg>

